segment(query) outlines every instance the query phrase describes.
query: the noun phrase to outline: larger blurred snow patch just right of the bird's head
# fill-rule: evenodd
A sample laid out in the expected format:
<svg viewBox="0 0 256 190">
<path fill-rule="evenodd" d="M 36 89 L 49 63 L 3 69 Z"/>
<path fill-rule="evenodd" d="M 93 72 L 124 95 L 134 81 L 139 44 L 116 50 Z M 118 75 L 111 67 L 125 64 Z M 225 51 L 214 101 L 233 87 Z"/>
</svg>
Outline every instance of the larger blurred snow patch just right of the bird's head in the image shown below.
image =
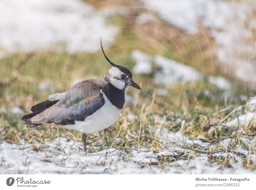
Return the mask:
<svg viewBox="0 0 256 190">
<path fill-rule="evenodd" d="M 150 56 L 139 50 L 134 50 L 132 56 L 136 61 L 133 72 L 147 73 L 149 74 L 149 66 L 151 63 L 155 63 L 156 67 L 160 69 L 154 69 L 156 84 L 167 84 L 187 81 L 202 80 L 202 74 L 199 73 L 193 67 L 187 66 L 184 63 L 179 63 L 174 60 L 167 59 L 162 56 Z M 139 67 L 139 69 L 138 69 Z"/>
</svg>

